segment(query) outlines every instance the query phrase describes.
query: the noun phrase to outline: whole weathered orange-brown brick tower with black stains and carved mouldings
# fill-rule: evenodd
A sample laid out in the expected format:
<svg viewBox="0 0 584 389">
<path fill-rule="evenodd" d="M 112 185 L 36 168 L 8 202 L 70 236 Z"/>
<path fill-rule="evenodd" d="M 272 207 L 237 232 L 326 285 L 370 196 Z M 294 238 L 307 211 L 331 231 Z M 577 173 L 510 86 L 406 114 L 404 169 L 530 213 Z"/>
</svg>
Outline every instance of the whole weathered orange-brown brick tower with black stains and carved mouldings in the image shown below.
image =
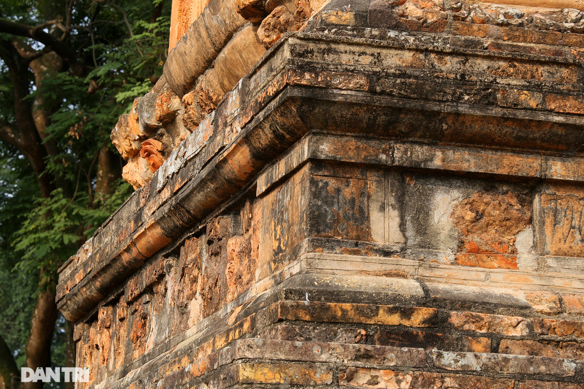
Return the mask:
<svg viewBox="0 0 584 389">
<path fill-rule="evenodd" d="M 584 388 L 584 3 L 494 2 L 175 0 L 78 387 Z"/>
</svg>

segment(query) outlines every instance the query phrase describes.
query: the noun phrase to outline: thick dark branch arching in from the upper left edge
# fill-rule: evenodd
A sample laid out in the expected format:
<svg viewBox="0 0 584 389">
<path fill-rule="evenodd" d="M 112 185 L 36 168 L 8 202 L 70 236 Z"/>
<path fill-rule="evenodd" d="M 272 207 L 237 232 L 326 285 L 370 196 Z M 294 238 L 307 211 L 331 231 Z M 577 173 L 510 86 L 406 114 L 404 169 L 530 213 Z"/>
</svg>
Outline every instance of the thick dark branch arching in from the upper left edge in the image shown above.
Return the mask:
<svg viewBox="0 0 584 389">
<path fill-rule="evenodd" d="M 71 71 L 75 75 L 82 75 L 85 70 L 83 62 L 78 60 L 77 54 L 71 47 L 41 29 L 0 19 L 0 32 L 31 38 L 50 47 L 51 50 L 68 62 Z"/>
</svg>

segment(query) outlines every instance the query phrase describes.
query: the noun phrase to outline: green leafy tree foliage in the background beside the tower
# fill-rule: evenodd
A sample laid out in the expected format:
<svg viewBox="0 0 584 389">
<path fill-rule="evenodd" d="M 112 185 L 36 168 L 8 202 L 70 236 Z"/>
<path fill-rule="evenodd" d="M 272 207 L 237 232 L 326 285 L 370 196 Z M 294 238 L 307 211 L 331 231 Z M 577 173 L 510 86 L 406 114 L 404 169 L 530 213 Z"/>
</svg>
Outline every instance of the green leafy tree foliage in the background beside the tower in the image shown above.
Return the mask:
<svg viewBox="0 0 584 389">
<path fill-rule="evenodd" d="M 37 26 L 62 19 L 64 4 L 3 0 L 0 18 Z M 76 77 L 65 63 L 36 84 L 30 72 L 26 98 L 40 101 L 40 108 L 50 112 L 45 141 L 57 148 L 46 159 L 44 172 L 55 178 L 57 189 L 50 197 L 41 198 L 36 176 L 21 151 L 0 142 L 0 310 L 4 313 L 0 335 L 14 350 L 19 367 L 36 294 L 54 287 L 58 267 L 132 191 L 119 180 L 108 193 L 96 195 L 96 161 L 103 148 L 113 150 L 109 134 L 120 114 L 129 112 L 134 98 L 150 91 L 162 74 L 170 7 L 170 0 L 74 2 L 72 29 L 64 42 L 84 61 L 86 74 Z M 46 31 L 57 37 L 62 34 L 54 26 Z M 20 41 L 36 50 L 43 47 L 8 34 L 0 34 L 0 39 Z M 11 82 L 0 60 L 0 124 L 15 126 Z M 41 269 L 46 274 L 42 280 Z M 55 329 L 53 363 L 64 363 L 63 328 L 61 318 Z"/>
</svg>

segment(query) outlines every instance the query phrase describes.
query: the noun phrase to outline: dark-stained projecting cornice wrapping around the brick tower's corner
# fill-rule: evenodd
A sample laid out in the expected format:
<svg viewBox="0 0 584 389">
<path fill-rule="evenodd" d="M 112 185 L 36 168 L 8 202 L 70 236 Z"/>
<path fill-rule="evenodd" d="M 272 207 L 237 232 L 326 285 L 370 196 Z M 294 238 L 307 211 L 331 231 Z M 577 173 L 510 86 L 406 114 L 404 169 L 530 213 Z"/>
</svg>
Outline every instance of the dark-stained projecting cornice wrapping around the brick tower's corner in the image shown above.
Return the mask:
<svg viewBox="0 0 584 389">
<path fill-rule="evenodd" d="M 172 239 L 180 237 L 183 231 L 203 221 L 208 213 L 248 185 L 268 161 L 290 147 L 310 128 L 387 138 L 406 137 L 423 142 L 411 146 L 395 143 L 392 146 L 395 151 L 388 152 L 384 157 L 387 160 L 381 161 L 384 165 L 580 179 L 579 159 L 569 157 L 569 154 L 579 152 L 579 145 L 584 144 L 580 140 L 583 137 L 580 130 L 582 119 L 578 114 L 549 112 L 544 106 L 499 106 L 493 110 L 488 107 L 489 99 L 471 100 L 473 103 L 455 102 L 450 98 L 444 101 L 444 95 L 427 96 L 426 86 L 413 88 L 406 96 L 403 89 L 369 91 L 367 86 L 383 86 L 380 80 L 387 77 L 384 74 L 391 72 L 393 66 L 394 77 L 404 77 L 405 85 L 406 80 L 412 78 L 425 77 L 427 82 L 427 76 L 432 74 L 431 79 L 435 80 L 432 89 L 436 90 L 436 86 L 440 88 L 443 82 L 444 71 L 458 73 L 463 66 L 469 67 L 468 72 L 474 74 L 472 85 L 475 86 L 471 86 L 468 80 L 454 78 L 449 81 L 450 88 L 460 88 L 465 84 L 467 93 L 484 96 L 485 91 L 491 93 L 496 85 L 498 89 L 492 93 L 500 95 L 502 85 L 516 84 L 517 80 L 526 77 L 531 84 L 541 82 L 547 90 L 559 96 L 564 93 L 566 85 L 571 85 L 572 90 L 579 88 L 576 82 L 581 76 L 575 60 L 512 53 L 497 53 L 493 57 L 490 52 L 458 49 L 474 56 L 471 61 L 463 61 L 463 57 L 458 56 L 460 54 L 453 53 L 452 47 L 445 46 L 447 50 L 441 51 L 441 46 L 434 42 L 426 46 L 426 52 L 420 51 L 422 47 L 423 40 L 417 38 L 404 42 L 388 36 L 387 41 L 371 41 L 314 34 L 290 36 L 274 47 L 249 78 L 242 79 L 230 92 L 214 114 L 180 143 L 157 170 L 154 179 L 123 206 L 116 220 L 106 223 L 96 234 L 97 238 L 86 244 L 88 249 L 81 251 L 81 256 L 62 269 L 58 299 L 65 316 L 80 318 L 114 284 L 139 268 L 144 258 L 154 255 Z M 367 54 L 369 51 L 377 54 L 373 57 Z M 346 59 L 343 62 L 333 60 L 340 53 L 345 53 L 342 55 Z M 437 55 L 450 61 L 445 62 L 450 65 L 440 65 L 442 68 L 438 73 Z M 323 56 L 332 61 L 322 62 L 319 58 Z M 366 66 L 359 65 L 357 71 L 356 65 L 363 61 L 364 56 L 371 58 L 370 62 Z M 481 64 L 480 58 L 503 68 L 509 61 L 524 64 L 519 66 L 524 66 L 524 70 L 514 70 L 506 77 L 495 77 L 490 74 L 491 68 Z M 419 61 L 423 64 L 429 61 L 432 66 L 428 67 L 432 71 L 423 70 L 424 67 L 420 70 Z M 541 61 L 541 66 L 545 61 L 545 66 L 550 67 L 549 72 L 538 77 L 539 81 L 533 79 L 530 70 L 535 68 L 537 61 Z M 551 64 L 554 64 L 553 68 Z M 339 72 L 343 75 L 340 76 Z M 481 89 L 477 91 L 477 82 L 481 78 L 483 81 L 478 84 Z M 488 85 L 489 82 L 493 86 Z M 420 94 L 416 96 L 416 93 Z M 570 93 L 573 95 L 572 91 Z M 396 121 L 397 117 L 401 119 Z M 531 131 L 533 126 L 541 130 Z M 453 145 L 468 144 L 471 148 L 441 150 L 424 144 L 433 140 Z M 483 168 L 464 162 L 465 158 L 468 160 L 472 155 L 484 152 L 474 151 L 474 147 L 495 147 L 498 144 L 515 151 L 510 154 L 489 151 L 491 159 L 485 160 L 489 162 Z M 541 151 L 533 154 L 533 148 Z M 430 151 L 442 153 L 442 158 L 426 160 L 423 156 Z M 519 154 L 515 154 L 517 151 Z M 554 152 L 557 157 L 549 155 Z M 498 159 L 501 162 L 496 162 Z M 509 164 L 510 160 L 516 162 Z M 496 169 L 498 163 L 504 170 Z M 521 169 L 530 170 L 522 172 Z M 138 209 L 140 211 L 136 213 Z M 103 234 L 106 230 L 110 232 Z M 109 243 L 100 241 L 103 238 Z M 65 297 L 67 295 L 69 297 Z M 66 305 L 71 308 L 66 308 Z M 79 313 L 74 314 L 75 311 Z"/>
</svg>

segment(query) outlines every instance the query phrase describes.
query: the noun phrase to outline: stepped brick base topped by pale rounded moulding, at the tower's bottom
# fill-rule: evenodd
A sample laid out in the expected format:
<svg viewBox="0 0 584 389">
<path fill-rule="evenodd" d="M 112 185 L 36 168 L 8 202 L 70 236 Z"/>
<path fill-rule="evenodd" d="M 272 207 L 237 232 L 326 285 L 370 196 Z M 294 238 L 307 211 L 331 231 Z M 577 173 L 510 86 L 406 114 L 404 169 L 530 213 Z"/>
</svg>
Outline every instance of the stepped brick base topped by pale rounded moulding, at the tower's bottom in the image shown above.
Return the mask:
<svg viewBox="0 0 584 389">
<path fill-rule="evenodd" d="M 365 284 L 367 289 L 362 289 Z M 145 291 L 131 310 L 156 307 L 161 297 L 157 290 Z M 459 298 L 453 300 L 453 294 Z M 238 305 L 230 314 L 217 312 L 203 319 L 159 348 L 124 363 L 126 367 L 102 384 L 112 388 L 584 387 L 580 383 L 584 322 L 539 314 L 528 302 L 540 306 L 541 300 L 533 300 L 533 295 L 411 279 L 303 273 Z M 552 297 L 558 296 L 545 294 L 547 300 Z M 119 321 L 119 310 L 117 305 L 110 312 L 118 318 L 110 324 L 113 334 L 127 331 L 123 338 L 138 338 L 141 328 L 136 325 L 131 331 L 120 330 L 126 324 L 125 319 Z M 172 331 L 186 319 L 176 316 L 168 318 L 163 308 L 148 319 L 157 328 Z M 178 322 L 170 324 L 172 319 Z M 99 346 L 104 332 L 99 328 L 100 320 L 78 334 L 81 364 L 103 360 Z M 119 360 L 117 355 L 110 358 L 105 356 L 103 373 L 107 364 Z M 93 367 L 100 369 L 95 362 Z M 99 378 L 98 374 L 95 379 Z"/>
</svg>

